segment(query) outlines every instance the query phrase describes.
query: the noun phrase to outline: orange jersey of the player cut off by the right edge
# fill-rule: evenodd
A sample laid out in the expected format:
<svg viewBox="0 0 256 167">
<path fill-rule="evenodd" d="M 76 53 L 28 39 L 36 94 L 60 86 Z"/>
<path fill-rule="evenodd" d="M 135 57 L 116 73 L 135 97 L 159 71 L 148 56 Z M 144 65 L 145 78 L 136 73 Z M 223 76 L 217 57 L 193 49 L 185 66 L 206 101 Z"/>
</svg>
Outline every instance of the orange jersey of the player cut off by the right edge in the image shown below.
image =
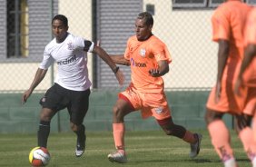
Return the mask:
<svg viewBox="0 0 256 167">
<path fill-rule="evenodd" d="M 256 45 L 256 8 L 251 10 L 250 15 L 248 16 L 248 20 L 245 26 L 244 33 L 244 44 L 247 46 L 248 44 Z M 256 87 L 256 58 L 254 56 L 251 64 L 246 69 L 243 79 L 248 86 Z"/>
</svg>

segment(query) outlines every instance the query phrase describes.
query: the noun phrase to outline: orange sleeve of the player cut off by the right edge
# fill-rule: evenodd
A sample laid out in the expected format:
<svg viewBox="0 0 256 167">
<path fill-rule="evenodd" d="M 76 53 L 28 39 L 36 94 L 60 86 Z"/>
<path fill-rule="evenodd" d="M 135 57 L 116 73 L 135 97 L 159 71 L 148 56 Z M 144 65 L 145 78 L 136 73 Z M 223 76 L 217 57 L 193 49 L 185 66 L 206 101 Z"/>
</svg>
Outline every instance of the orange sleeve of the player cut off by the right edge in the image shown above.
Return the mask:
<svg viewBox="0 0 256 167">
<path fill-rule="evenodd" d="M 256 44 L 256 8 L 248 16 L 245 26 L 244 44 Z"/>
</svg>

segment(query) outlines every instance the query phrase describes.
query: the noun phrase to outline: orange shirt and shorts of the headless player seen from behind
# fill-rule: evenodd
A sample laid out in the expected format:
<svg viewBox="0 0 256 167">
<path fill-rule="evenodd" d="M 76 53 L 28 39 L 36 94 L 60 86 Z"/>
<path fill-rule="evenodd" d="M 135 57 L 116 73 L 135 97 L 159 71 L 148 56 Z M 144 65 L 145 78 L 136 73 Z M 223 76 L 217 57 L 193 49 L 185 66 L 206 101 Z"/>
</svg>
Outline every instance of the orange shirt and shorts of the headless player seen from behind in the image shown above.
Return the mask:
<svg viewBox="0 0 256 167">
<path fill-rule="evenodd" d="M 215 103 L 215 87 L 210 93 L 207 107 L 219 112 L 241 113 L 242 98 L 233 93 L 234 83 L 239 74 L 243 58 L 243 32 L 251 6 L 240 0 L 228 0 L 220 5 L 212 15 L 212 40 L 227 40 L 230 44 L 229 56 L 222 74 L 222 94 Z"/>
</svg>

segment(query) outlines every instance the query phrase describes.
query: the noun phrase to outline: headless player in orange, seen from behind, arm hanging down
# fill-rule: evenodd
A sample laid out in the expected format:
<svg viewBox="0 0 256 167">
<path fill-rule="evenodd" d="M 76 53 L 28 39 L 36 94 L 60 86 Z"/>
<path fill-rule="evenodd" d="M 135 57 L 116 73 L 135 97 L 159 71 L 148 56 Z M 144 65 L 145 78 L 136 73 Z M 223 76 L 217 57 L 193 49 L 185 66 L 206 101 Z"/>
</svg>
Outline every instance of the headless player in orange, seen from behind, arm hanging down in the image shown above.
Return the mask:
<svg viewBox="0 0 256 167">
<path fill-rule="evenodd" d="M 234 93 L 234 83 L 239 74 L 243 58 L 243 32 L 251 6 L 240 0 L 228 0 L 220 5 L 212 15 L 212 40 L 219 44 L 218 74 L 216 85 L 212 88 L 206 104 L 206 123 L 212 138 L 212 145 L 225 167 L 235 167 L 237 162 L 231 149 L 230 134 L 222 116 L 230 113 L 237 121 L 237 132 L 244 150 L 251 162 L 254 158 L 252 131 L 247 125 L 250 122 L 243 117 L 243 96 Z"/>
</svg>

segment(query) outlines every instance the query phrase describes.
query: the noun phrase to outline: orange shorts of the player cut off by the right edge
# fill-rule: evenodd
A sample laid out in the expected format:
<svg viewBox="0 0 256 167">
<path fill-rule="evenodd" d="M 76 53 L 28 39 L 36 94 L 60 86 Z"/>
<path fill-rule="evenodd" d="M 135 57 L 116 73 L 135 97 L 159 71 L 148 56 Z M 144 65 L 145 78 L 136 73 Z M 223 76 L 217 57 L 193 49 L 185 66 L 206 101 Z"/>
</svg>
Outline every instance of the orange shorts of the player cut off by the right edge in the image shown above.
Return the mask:
<svg viewBox="0 0 256 167">
<path fill-rule="evenodd" d="M 248 89 L 243 113 L 254 115 L 256 113 L 256 87 Z"/>
</svg>

